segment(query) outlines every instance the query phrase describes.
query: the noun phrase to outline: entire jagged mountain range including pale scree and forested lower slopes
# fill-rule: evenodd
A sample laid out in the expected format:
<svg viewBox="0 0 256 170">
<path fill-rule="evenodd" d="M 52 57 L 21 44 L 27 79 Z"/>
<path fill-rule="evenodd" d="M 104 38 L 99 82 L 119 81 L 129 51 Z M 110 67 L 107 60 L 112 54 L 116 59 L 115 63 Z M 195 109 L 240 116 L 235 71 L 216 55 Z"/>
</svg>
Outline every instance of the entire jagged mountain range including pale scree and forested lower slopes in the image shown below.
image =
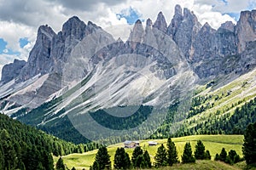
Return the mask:
<svg viewBox="0 0 256 170">
<path fill-rule="evenodd" d="M 58 33 L 40 26 L 27 61 L 3 66 L 0 109 L 80 143 L 85 138 L 148 138 L 168 125 L 166 117 L 178 104 L 166 130 L 176 133 L 184 122 L 189 127 L 223 103 L 233 105 L 225 116 L 253 99 L 255 54 L 256 10 L 241 12 L 236 25 L 227 21 L 214 30 L 177 5 L 169 25 L 161 12 L 145 27 L 137 20 L 125 42 L 73 16 Z M 218 103 L 210 95 L 224 100 Z M 207 109 L 199 112 L 201 117 L 189 116 L 202 105 Z"/>
</svg>

